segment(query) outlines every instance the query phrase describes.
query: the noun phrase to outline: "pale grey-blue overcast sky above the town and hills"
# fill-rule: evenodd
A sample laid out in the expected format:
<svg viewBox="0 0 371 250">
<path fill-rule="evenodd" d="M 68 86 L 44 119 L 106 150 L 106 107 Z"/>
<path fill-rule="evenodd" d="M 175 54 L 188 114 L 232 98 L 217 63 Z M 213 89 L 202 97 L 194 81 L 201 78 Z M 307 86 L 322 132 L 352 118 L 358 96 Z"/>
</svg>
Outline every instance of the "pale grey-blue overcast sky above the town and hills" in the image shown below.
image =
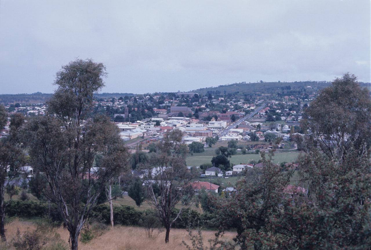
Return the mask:
<svg viewBox="0 0 371 250">
<path fill-rule="evenodd" d="M 234 82 L 370 81 L 370 0 L 0 0 L 0 93 L 53 92 L 75 58 L 102 92 Z"/>
</svg>

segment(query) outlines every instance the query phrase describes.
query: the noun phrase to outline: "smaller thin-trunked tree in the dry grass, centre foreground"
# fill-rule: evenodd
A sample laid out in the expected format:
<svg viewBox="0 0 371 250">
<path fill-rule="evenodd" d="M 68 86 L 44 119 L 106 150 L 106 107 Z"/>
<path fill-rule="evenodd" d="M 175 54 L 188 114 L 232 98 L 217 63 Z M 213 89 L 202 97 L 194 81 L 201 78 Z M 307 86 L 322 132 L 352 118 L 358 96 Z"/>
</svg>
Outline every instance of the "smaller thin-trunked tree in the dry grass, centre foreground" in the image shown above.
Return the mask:
<svg viewBox="0 0 371 250">
<path fill-rule="evenodd" d="M 183 134 L 175 129 L 166 133 L 159 143 L 159 152 L 151 159 L 150 165 L 143 170 L 144 184 L 147 189 L 147 201 L 158 212 L 166 229 L 165 243 L 169 242 L 170 229 L 178 219 L 187 201 L 193 194 L 190 182 L 194 176 L 185 166 L 188 147 L 181 143 Z M 154 185 L 159 188 L 158 194 Z M 175 205 L 181 202 L 181 208 L 173 217 Z"/>
</svg>

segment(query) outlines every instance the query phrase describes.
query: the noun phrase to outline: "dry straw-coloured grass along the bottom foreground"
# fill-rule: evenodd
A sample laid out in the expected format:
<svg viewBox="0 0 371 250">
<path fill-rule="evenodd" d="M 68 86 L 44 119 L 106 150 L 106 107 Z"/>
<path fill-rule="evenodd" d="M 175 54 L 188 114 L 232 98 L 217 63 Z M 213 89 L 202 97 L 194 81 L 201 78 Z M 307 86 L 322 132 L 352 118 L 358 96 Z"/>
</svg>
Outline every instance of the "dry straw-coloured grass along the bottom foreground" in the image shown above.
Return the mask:
<svg viewBox="0 0 371 250">
<path fill-rule="evenodd" d="M 34 230 L 35 225 L 29 221 L 14 220 L 6 225 L 7 246 L 0 249 L 13 249 L 11 240 L 16 236 L 17 228 L 23 234 L 27 230 Z M 63 227 L 56 228 L 56 233 L 60 234 L 61 240 L 66 242 L 68 246 L 68 231 Z M 194 232 L 196 233 L 196 231 Z M 202 231 L 204 238 L 204 246 L 209 246 L 207 240 L 214 238 L 214 231 Z M 226 232 L 223 239 L 232 240 L 235 233 Z M 151 250 L 151 249 L 186 249 L 182 241 L 184 240 L 188 245 L 192 245 L 190 237 L 184 229 L 171 229 L 170 243 L 165 244 L 165 232 L 162 231 L 158 234 L 155 230 L 152 238 L 145 236 L 143 228 L 140 227 L 123 227 L 115 226 L 113 229 L 104 231 L 101 236 L 93 238 L 88 243 L 79 242 L 79 250 Z"/>
</svg>

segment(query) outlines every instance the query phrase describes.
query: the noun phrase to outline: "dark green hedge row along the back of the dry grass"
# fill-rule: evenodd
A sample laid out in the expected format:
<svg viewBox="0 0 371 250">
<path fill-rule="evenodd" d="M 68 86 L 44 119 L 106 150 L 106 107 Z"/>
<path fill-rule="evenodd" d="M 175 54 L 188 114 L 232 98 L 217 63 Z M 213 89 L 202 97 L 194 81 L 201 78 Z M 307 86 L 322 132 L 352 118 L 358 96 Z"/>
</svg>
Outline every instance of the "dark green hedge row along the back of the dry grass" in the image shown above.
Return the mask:
<svg viewBox="0 0 371 250">
<path fill-rule="evenodd" d="M 173 216 L 179 210 L 174 209 Z M 35 201 L 11 201 L 6 208 L 6 214 L 9 217 L 48 217 L 50 216 L 53 221 L 62 222 L 59 211 L 55 205 L 49 207 L 47 204 Z M 135 210 L 131 206 L 114 206 L 114 223 L 115 225 L 139 225 L 144 212 Z M 107 204 L 101 204 L 96 207 L 89 218 L 95 218 L 103 223 L 110 223 L 110 211 Z M 182 212 L 180 217 L 173 224 L 174 228 L 187 228 L 187 227 L 207 227 L 214 228 L 217 225 L 213 224 L 214 216 L 209 213 L 200 214 L 197 211 L 186 209 Z"/>
</svg>

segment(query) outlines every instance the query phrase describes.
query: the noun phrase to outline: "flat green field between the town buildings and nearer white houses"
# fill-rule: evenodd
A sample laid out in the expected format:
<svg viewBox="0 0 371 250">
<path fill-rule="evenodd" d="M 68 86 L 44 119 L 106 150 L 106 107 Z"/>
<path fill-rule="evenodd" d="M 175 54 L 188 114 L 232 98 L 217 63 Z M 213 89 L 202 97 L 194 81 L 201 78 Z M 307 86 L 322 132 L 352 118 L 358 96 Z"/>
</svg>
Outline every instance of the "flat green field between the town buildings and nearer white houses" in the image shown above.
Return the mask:
<svg viewBox="0 0 371 250">
<path fill-rule="evenodd" d="M 204 152 L 205 153 L 205 152 Z M 187 166 L 200 166 L 202 163 L 208 163 L 211 162 L 211 159 L 215 155 L 206 155 L 204 153 L 200 153 L 199 155 L 193 154 L 193 156 L 188 156 Z M 204 155 L 201 155 L 204 154 Z M 293 162 L 298 158 L 298 155 L 300 152 L 285 152 L 285 153 L 275 153 L 275 156 L 273 156 L 273 162 L 276 164 L 279 164 L 281 162 Z M 230 158 L 230 162 L 234 164 L 243 164 L 243 163 L 249 163 L 250 160 L 256 160 L 258 161 L 260 159 L 260 154 L 237 154 L 233 155 L 232 158 Z"/>
</svg>

